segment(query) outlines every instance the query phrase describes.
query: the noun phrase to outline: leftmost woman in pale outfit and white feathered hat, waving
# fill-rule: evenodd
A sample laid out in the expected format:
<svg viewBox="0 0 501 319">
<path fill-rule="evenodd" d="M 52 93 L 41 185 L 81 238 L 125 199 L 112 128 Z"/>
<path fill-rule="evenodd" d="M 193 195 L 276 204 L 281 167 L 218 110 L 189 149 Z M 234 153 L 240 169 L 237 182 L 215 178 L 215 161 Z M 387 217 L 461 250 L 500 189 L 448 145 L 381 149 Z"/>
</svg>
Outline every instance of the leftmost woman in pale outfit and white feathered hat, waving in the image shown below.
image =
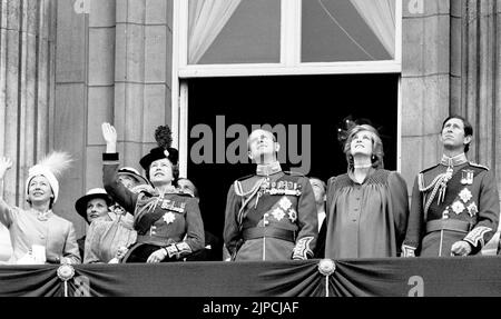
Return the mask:
<svg viewBox="0 0 501 319">
<path fill-rule="evenodd" d="M 65 152 L 52 152 L 29 170 L 26 196 L 29 209 L 10 206 L 0 198 L 0 221 L 12 242 L 10 263 L 80 263 L 73 225 L 52 212 L 58 200 L 57 176 L 71 162 Z M 12 161 L 0 158 L 0 180 Z"/>
</svg>

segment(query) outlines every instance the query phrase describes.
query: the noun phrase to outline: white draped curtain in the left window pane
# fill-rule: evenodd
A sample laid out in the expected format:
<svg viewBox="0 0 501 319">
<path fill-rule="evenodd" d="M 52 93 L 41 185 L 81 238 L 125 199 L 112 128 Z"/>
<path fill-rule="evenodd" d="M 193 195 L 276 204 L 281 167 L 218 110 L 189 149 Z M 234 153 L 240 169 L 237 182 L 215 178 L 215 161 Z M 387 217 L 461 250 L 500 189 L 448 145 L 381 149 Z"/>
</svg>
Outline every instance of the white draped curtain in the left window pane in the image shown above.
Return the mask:
<svg viewBox="0 0 501 319">
<path fill-rule="evenodd" d="M 190 0 L 188 63 L 197 63 L 242 0 Z"/>
</svg>

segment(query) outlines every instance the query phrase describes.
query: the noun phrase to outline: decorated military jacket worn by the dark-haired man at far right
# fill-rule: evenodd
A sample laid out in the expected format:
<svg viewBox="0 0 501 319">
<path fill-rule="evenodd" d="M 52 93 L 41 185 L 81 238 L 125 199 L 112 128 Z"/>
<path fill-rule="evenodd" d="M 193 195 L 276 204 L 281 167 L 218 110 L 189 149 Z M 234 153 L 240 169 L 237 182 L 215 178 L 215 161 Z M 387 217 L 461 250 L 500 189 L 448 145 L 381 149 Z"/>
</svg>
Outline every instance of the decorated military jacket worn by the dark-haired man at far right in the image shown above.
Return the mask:
<svg viewBox="0 0 501 319">
<path fill-rule="evenodd" d="M 459 240 L 468 241 L 471 253 L 478 253 L 498 229 L 494 176 L 485 167 L 466 161 L 453 167 L 441 191 L 433 186 L 446 169 L 438 165 L 415 178 L 403 245 L 406 256 L 450 256 L 451 246 Z"/>
</svg>

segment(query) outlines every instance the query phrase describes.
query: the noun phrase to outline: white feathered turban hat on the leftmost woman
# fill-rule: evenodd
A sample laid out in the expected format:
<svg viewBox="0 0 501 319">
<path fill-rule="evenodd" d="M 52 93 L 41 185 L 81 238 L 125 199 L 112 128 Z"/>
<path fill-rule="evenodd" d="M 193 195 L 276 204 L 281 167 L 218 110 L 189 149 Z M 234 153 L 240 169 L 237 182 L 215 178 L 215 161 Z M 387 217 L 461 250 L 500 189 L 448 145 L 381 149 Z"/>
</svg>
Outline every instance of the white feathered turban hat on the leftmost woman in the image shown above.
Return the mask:
<svg viewBox="0 0 501 319">
<path fill-rule="evenodd" d="M 28 172 L 28 179 L 26 180 L 26 196 L 28 197 L 28 189 L 31 179 L 37 176 L 43 176 L 49 181 L 53 192 L 53 202 L 58 200 L 59 196 L 59 182 L 58 178 L 62 172 L 70 167 L 71 157 L 67 152 L 52 151 L 40 160 L 36 166 L 30 168 Z"/>
</svg>

